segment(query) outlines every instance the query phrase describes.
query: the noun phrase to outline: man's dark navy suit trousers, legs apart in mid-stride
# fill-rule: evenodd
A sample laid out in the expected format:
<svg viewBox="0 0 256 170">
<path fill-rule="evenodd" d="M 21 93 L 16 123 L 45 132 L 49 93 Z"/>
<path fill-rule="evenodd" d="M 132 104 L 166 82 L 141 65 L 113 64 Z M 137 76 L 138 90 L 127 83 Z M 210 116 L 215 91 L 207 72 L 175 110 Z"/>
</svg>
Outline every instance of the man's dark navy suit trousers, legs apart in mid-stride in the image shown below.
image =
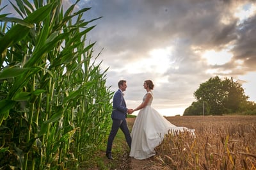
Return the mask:
<svg viewBox="0 0 256 170">
<path fill-rule="evenodd" d="M 112 123 L 111 131 L 110 131 L 110 134 L 108 137 L 108 145 L 107 145 L 106 153 L 111 153 L 112 144 L 113 144 L 113 141 L 115 139 L 115 136 L 116 136 L 119 128 L 121 128 L 122 132 L 125 135 L 126 142 L 129 146 L 129 148 L 131 148 L 132 138 L 131 138 L 131 134 L 129 132 L 126 120 L 112 119 L 112 121 L 113 121 L 113 123 Z"/>
</svg>

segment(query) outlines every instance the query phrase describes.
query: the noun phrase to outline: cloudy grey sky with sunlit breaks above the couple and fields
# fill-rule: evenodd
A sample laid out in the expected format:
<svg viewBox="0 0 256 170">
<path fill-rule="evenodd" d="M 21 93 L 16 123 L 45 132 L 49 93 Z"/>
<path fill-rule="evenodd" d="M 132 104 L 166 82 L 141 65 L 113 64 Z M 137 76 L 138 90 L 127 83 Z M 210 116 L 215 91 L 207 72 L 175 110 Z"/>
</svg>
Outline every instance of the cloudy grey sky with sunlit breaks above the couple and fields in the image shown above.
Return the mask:
<svg viewBox="0 0 256 170">
<path fill-rule="evenodd" d="M 13 0 L 12 0 L 13 1 Z M 75 0 L 63 0 L 65 6 Z M 127 80 L 125 100 L 138 106 L 143 82 L 154 84 L 152 106 L 182 115 L 211 77 L 234 77 L 256 102 L 256 3 L 247 0 L 81 0 L 87 20 L 102 17 L 88 39 L 107 72 L 107 86 Z M 137 114 L 138 112 L 134 112 Z"/>
</svg>

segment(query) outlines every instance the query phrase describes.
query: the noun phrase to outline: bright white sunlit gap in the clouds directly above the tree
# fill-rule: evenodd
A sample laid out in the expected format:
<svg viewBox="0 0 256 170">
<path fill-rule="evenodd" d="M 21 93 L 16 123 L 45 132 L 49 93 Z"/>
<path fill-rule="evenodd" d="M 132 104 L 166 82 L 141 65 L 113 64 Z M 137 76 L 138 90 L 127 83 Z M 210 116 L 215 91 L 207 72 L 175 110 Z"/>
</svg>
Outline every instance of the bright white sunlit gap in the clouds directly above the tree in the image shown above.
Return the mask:
<svg viewBox="0 0 256 170">
<path fill-rule="evenodd" d="M 202 56 L 203 58 L 207 59 L 207 63 L 209 65 L 224 65 L 232 59 L 233 54 L 227 50 L 221 50 L 220 52 L 216 52 L 215 50 L 207 50 Z"/>
</svg>

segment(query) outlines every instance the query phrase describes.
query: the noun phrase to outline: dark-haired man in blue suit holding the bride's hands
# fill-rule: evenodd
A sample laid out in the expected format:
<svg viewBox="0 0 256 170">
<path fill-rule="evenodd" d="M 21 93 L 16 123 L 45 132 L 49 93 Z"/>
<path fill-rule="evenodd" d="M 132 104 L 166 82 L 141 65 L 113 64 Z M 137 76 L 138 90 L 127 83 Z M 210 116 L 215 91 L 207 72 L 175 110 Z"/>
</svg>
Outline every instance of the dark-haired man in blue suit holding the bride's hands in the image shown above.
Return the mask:
<svg viewBox="0 0 256 170">
<path fill-rule="evenodd" d="M 126 142 L 131 148 L 131 135 L 127 126 L 126 119 L 127 113 L 132 114 L 133 109 L 127 109 L 125 100 L 124 100 L 124 93 L 125 89 L 127 88 L 127 84 L 125 80 L 121 80 L 118 82 L 118 90 L 116 91 L 114 97 L 113 97 L 113 111 L 111 114 L 112 118 L 112 128 L 108 137 L 108 145 L 106 150 L 106 157 L 109 159 L 113 159 L 111 150 L 112 150 L 112 144 L 113 140 L 118 132 L 118 129 L 121 128 L 122 132 L 125 135 Z"/>
</svg>

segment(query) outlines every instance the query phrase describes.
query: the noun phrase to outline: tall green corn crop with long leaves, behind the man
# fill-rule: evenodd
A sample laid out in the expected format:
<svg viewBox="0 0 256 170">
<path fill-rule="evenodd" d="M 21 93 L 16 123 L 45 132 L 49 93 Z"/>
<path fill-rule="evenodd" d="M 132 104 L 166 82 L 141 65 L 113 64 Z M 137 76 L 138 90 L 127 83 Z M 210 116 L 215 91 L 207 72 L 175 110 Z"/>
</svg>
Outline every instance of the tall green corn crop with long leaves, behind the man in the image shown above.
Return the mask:
<svg viewBox="0 0 256 170">
<path fill-rule="evenodd" d="M 106 141 L 113 93 L 86 39 L 100 18 L 77 3 L 0 9 L 0 169 L 75 169 Z"/>
</svg>

